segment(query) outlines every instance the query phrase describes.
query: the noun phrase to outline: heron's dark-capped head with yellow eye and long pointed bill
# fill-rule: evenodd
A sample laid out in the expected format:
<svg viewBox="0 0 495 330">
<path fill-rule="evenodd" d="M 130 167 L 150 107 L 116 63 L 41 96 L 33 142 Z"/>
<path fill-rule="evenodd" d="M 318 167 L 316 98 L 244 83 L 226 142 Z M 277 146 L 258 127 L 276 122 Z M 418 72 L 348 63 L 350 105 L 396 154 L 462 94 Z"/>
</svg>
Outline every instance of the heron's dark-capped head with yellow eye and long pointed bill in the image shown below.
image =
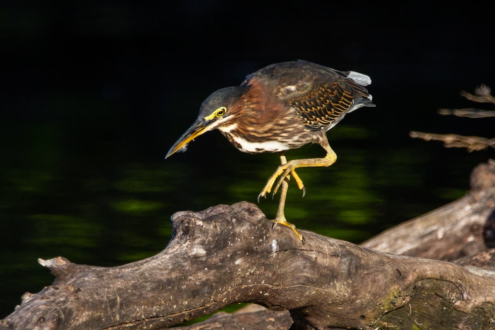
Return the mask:
<svg viewBox="0 0 495 330">
<path fill-rule="evenodd" d="M 222 125 L 229 125 L 235 117 L 233 105 L 242 94 L 241 87 L 227 87 L 208 96 L 199 109 L 199 115 L 191 127 L 172 145 L 165 158 L 177 151 L 186 151 L 189 142 L 203 133 Z"/>
</svg>

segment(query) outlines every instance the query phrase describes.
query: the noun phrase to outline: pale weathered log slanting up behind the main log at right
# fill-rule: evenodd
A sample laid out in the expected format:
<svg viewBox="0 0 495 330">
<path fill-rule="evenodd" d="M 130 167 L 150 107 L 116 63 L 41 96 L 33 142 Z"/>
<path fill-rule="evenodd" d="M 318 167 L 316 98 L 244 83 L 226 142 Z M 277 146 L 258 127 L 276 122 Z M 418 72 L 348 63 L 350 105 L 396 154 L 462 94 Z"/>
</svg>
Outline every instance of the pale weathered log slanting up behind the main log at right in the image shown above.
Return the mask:
<svg viewBox="0 0 495 330">
<path fill-rule="evenodd" d="M 484 235 L 495 210 L 495 161 L 471 173 L 471 189 L 462 198 L 391 228 L 361 245 L 383 252 L 455 261 L 487 250 Z M 494 265 L 487 265 L 494 267 Z"/>
</svg>

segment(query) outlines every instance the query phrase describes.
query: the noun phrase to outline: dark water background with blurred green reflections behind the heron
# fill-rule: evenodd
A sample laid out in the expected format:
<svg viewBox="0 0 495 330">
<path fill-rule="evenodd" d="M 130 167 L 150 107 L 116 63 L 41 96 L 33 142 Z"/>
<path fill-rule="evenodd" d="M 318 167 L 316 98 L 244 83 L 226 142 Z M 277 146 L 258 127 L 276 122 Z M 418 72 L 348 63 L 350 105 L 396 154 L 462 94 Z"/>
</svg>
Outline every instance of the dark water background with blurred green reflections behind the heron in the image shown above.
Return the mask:
<svg viewBox="0 0 495 330">
<path fill-rule="evenodd" d="M 298 228 L 358 243 L 462 196 L 493 149 L 408 133 L 494 137 L 493 119 L 436 113 L 494 108 L 459 96 L 495 87 L 493 12 L 414 3 L 2 2 L 0 317 L 52 282 L 37 258 L 132 262 L 163 249 L 176 211 L 255 202 L 275 155 L 213 132 L 163 157 L 204 98 L 271 63 L 365 73 L 377 105 L 328 133 L 334 166 L 300 171 L 308 195 L 290 189 L 287 209 Z M 259 204 L 268 217 L 277 200 Z"/>
</svg>

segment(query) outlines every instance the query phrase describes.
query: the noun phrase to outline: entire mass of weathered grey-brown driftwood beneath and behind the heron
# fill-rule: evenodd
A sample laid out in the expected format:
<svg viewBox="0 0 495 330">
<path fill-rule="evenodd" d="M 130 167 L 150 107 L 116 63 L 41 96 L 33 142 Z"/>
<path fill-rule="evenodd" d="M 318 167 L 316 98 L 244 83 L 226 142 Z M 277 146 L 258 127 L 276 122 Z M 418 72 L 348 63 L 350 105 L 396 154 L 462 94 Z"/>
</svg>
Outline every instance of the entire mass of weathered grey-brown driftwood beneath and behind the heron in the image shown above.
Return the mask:
<svg viewBox="0 0 495 330">
<path fill-rule="evenodd" d="M 247 202 L 178 212 L 173 238 L 148 259 L 40 260 L 54 282 L 26 293 L 0 329 L 162 329 L 238 302 L 269 310 L 179 329 L 494 329 L 495 162 L 471 185 L 362 246 L 307 231 L 302 244 Z"/>
</svg>

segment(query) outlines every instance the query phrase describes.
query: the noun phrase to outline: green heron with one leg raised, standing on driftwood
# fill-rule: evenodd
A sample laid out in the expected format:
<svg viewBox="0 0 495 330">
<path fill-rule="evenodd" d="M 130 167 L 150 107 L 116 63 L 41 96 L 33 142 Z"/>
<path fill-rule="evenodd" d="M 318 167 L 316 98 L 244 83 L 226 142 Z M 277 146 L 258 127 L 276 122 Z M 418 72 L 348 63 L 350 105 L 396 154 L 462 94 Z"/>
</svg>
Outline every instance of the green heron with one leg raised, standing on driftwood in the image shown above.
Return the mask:
<svg viewBox="0 0 495 330">
<path fill-rule="evenodd" d="M 290 176 L 304 196 L 304 184 L 296 169 L 330 166 L 336 161 L 337 155 L 328 144 L 326 132 L 346 113 L 362 106 L 375 106 L 364 88 L 370 83 L 366 75 L 302 60 L 269 65 L 248 75 L 240 86 L 227 87 L 208 96 L 201 104 L 198 119 L 165 158 L 185 151 L 189 142 L 213 129 L 220 130 L 243 152 L 278 152 L 281 165 L 261 190 L 258 202 L 272 189 L 275 195 L 282 186 L 274 226 L 281 224 L 291 228 L 304 242 L 284 215 Z M 326 151 L 325 157 L 287 161 L 286 150 L 307 143 L 321 145 Z"/>
</svg>

